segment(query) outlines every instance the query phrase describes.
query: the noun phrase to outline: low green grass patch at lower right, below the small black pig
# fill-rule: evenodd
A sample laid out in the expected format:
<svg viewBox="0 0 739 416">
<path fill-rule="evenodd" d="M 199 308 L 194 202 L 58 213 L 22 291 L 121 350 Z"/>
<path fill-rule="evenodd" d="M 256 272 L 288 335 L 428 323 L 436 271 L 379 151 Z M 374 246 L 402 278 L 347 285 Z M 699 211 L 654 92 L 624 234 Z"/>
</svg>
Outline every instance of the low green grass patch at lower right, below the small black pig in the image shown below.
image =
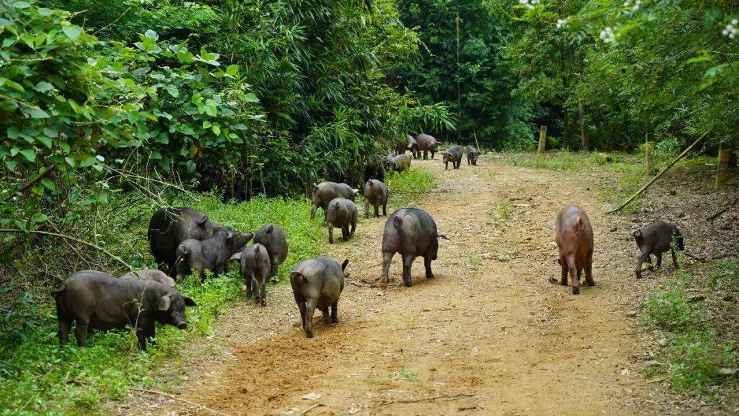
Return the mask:
<svg viewBox="0 0 739 416">
<path fill-rule="evenodd" d="M 711 285 L 739 286 L 739 261 L 718 263 L 713 267 L 707 293 L 712 293 Z M 675 392 L 710 399 L 717 386 L 735 383 L 720 375 L 718 369 L 739 366 L 737 344 L 732 341 L 737 334 L 728 333 L 730 330 L 720 324 L 732 318 L 719 319 L 730 313 L 721 303 L 711 307 L 707 301 L 695 299 L 692 291 L 695 280 L 694 273 L 680 269 L 644 304 L 644 324 L 667 334 L 667 345 L 655 357 L 666 365 L 649 367 L 647 375 L 655 381 L 668 381 Z"/>
</svg>

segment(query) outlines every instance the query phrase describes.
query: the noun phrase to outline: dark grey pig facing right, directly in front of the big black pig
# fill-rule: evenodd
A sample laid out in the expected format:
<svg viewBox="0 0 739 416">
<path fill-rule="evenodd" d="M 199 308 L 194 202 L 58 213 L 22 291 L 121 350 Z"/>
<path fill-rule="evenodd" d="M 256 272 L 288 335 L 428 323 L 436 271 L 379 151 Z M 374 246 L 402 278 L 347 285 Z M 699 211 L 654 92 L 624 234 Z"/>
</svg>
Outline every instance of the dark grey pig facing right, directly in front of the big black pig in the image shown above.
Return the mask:
<svg viewBox="0 0 739 416">
<path fill-rule="evenodd" d="M 195 271 L 202 279 L 202 271 L 205 269 L 212 270 L 218 276 L 228 270 L 228 260 L 234 253 L 242 250 L 252 236 L 252 233 L 226 231 L 202 241 L 186 239 L 177 248 L 177 276 L 182 277 Z"/>
</svg>

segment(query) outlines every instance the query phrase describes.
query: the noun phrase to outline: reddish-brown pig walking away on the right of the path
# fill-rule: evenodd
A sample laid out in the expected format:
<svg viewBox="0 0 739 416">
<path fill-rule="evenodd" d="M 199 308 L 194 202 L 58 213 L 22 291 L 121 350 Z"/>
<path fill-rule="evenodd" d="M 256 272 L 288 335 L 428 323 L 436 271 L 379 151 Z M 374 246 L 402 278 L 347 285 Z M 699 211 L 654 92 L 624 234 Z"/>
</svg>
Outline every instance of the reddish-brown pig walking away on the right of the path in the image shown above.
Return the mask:
<svg viewBox="0 0 739 416">
<path fill-rule="evenodd" d="M 593 282 L 593 228 L 585 210 L 577 205 L 567 205 L 556 216 L 554 228 L 556 245 L 559 247 L 559 265 L 562 266 L 562 286 L 567 285 L 567 274 L 570 273 L 572 294 L 580 293 L 580 273 L 585 269 L 585 282 L 594 286 Z"/>
</svg>

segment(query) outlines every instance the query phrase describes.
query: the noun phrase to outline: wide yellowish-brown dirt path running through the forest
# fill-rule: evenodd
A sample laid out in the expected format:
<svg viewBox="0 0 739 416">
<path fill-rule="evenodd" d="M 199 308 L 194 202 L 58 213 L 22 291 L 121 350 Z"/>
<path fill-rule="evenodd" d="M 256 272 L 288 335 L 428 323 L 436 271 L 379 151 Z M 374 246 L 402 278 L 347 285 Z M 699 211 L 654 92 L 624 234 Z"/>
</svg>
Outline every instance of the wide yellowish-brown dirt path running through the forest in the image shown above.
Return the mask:
<svg viewBox="0 0 739 416">
<path fill-rule="evenodd" d="M 314 405 L 307 414 L 655 412 L 636 404 L 651 403 L 653 388 L 633 368 L 632 263 L 613 266 L 633 250 L 609 236 L 623 220 L 550 171 L 489 160 L 457 171 L 439 160 L 413 166 L 437 175 L 440 187 L 418 206 L 452 239 L 440 242 L 436 279 L 417 259 L 413 287 L 403 287 L 395 256 L 392 284 L 367 287 L 380 274 L 385 219 L 362 218 L 352 242 L 330 248 L 350 259 L 353 282 L 339 324 L 317 323 L 316 338 L 305 338 L 289 286 L 273 289 L 267 308 L 249 304 L 228 318 L 225 355 L 188 372 L 182 397 L 231 416 L 301 415 Z M 596 234 L 596 286 L 580 296 L 548 282 L 559 276 L 554 216 L 568 202 L 588 211 Z M 309 393 L 320 398 L 302 399 Z M 195 412 L 180 405 L 168 410 Z"/>
</svg>

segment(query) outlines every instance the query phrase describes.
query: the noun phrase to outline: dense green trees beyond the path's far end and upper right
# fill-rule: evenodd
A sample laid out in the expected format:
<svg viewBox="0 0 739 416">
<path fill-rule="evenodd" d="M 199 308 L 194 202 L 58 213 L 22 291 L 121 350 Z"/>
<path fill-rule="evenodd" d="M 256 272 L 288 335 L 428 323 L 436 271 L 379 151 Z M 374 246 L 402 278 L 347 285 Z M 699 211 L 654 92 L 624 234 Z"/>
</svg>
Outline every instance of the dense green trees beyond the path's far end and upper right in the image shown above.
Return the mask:
<svg viewBox="0 0 739 416">
<path fill-rule="evenodd" d="M 419 54 L 401 86 L 459 112 L 460 143 L 736 146 L 739 15 L 730 1 L 399 0 Z M 458 43 L 457 43 L 458 42 Z M 731 143 L 731 144 L 730 144 Z"/>
</svg>

